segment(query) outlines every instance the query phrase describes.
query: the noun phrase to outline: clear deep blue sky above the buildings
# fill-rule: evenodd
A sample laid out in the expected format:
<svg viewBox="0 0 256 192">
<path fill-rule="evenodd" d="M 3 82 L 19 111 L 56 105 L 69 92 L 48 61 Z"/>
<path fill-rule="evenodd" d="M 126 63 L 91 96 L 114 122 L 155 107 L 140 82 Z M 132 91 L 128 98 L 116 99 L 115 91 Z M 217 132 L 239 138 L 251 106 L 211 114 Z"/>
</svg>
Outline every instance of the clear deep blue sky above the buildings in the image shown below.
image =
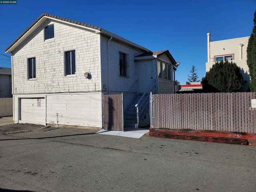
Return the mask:
<svg viewBox="0 0 256 192">
<path fill-rule="evenodd" d="M 169 50 L 185 84 L 192 65 L 205 75 L 207 36 L 250 36 L 256 0 L 17 0 L 0 4 L 0 54 L 43 12 L 104 28 L 151 51 Z M 10 54 L 7 54 L 10 55 Z M 7 60 L 6 60 L 7 59 Z M 0 66 L 10 67 L 0 55 Z"/>
</svg>

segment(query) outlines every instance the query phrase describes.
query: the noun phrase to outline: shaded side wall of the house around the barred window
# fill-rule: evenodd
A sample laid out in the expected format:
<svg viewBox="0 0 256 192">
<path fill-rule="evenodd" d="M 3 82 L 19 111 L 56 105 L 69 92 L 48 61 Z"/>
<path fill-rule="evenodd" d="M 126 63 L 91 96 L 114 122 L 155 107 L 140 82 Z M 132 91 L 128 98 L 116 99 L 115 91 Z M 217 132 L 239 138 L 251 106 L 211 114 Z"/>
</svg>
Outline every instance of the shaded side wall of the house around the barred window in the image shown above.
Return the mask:
<svg viewBox="0 0 256 192">
<path fill-rule="evenodd" d="M 106 85 L 107 92 L 127 92 L 137 80 L 137 66 L 134 62 L 135 54 L 140 51 L 129 46 L 120 44 L 115 40 L 110 41 L 110 85 L 108 84 L 108 42 L 109 38 L 101 36 L 101 66 L 102 66 L 102 85 Z M 129 54 L 129 77 L 119 76 L 119 52 Z M 135 84 L 130 92 L 137 92 Z"/>
</svg>

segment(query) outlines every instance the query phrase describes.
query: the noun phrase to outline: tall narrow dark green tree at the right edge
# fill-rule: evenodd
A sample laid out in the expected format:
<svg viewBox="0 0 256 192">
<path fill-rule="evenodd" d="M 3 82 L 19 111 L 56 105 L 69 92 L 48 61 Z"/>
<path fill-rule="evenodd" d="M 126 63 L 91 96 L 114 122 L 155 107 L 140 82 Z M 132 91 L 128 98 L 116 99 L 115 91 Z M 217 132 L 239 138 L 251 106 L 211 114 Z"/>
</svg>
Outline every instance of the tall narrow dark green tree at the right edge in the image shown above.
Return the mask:
<svg viewBox="0 0 256 192">
<path fill-rule="evenodd" d="M 247 46 L 247 65 L 250 72 L 250 86 L 252 92 L 256 92 L 256 11 L 254 12 L 254 27 Z"/>
</svg>

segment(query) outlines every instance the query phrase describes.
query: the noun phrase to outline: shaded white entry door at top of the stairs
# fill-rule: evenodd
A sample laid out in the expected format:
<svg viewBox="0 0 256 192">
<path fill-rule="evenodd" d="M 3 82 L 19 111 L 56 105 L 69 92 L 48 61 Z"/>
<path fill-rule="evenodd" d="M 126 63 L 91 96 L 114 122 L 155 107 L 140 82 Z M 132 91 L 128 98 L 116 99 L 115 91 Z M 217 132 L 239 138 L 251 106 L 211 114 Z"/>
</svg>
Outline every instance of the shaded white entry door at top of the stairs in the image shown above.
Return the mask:
<svg viewBox="0 0 256 192">
<path fill-rule="evenodd" d="M 152 60 L 139 62 L 139 92 L 147 91 L 153 80 Z"/>
</svg>

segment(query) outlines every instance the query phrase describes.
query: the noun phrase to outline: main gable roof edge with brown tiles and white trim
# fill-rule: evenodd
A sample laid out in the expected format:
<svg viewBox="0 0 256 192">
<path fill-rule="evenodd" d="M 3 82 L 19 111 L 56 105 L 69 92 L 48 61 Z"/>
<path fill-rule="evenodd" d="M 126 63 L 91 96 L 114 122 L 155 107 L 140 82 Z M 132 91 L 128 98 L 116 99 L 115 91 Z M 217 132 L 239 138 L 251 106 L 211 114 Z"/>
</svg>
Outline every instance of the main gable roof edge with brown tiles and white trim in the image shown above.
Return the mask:
<svg viewBox="0 0 256 192">
<path fill-rule="evenodd" d="M 5 52 L 12 52 L 13 50 L 15 50 L 20 44 L 22 44 L 22 42 L 24 42 L 40 25 L 42 25 L 46 20 L 48 19 L 52 19 L 52 20 L 58 20 L 60 22 L 64 22 L 64 23 L 69 23 L 72 25 L 76 25 L 76 26 L 80 26 L 82 28 L 85 28 L 87 30 L 92 30 L 94 32 L 100 33 L 100 34 L 104 34 L 106 36 L 112 36 L 113 39 L 118 40 L 120 42 L 124 42 L 125 44 L 128 44 L 134 48 L 137 48 L 139 50 L 142 50 L 143 52 L 145 51 L 149 51 L 147 48 L 144 48 L 138 44 L 135 44 L 129 40 L 126 40 L 116 34 L 113 34 L 111 32 L 108 32 L 107 30 L 104 30 L 100 27 L 97 26 L 93 26 L 90 24 L 85 24 L 82 22 L 78 22 L 78 21 L 74 21 L 74 20 L 70 20 L 70 19 L 66 19 L 66 18 L 62 18 L 62 17 L 58 17 L 58 16 L 54 16 L 51 14 L 47 14 L 47 13 L 42 13 L 14 42 L 12 42 L 12 44 L 10 44 L 10 46 L 8 46 L 8 48 L 6 48 Z"/>
</svg>

